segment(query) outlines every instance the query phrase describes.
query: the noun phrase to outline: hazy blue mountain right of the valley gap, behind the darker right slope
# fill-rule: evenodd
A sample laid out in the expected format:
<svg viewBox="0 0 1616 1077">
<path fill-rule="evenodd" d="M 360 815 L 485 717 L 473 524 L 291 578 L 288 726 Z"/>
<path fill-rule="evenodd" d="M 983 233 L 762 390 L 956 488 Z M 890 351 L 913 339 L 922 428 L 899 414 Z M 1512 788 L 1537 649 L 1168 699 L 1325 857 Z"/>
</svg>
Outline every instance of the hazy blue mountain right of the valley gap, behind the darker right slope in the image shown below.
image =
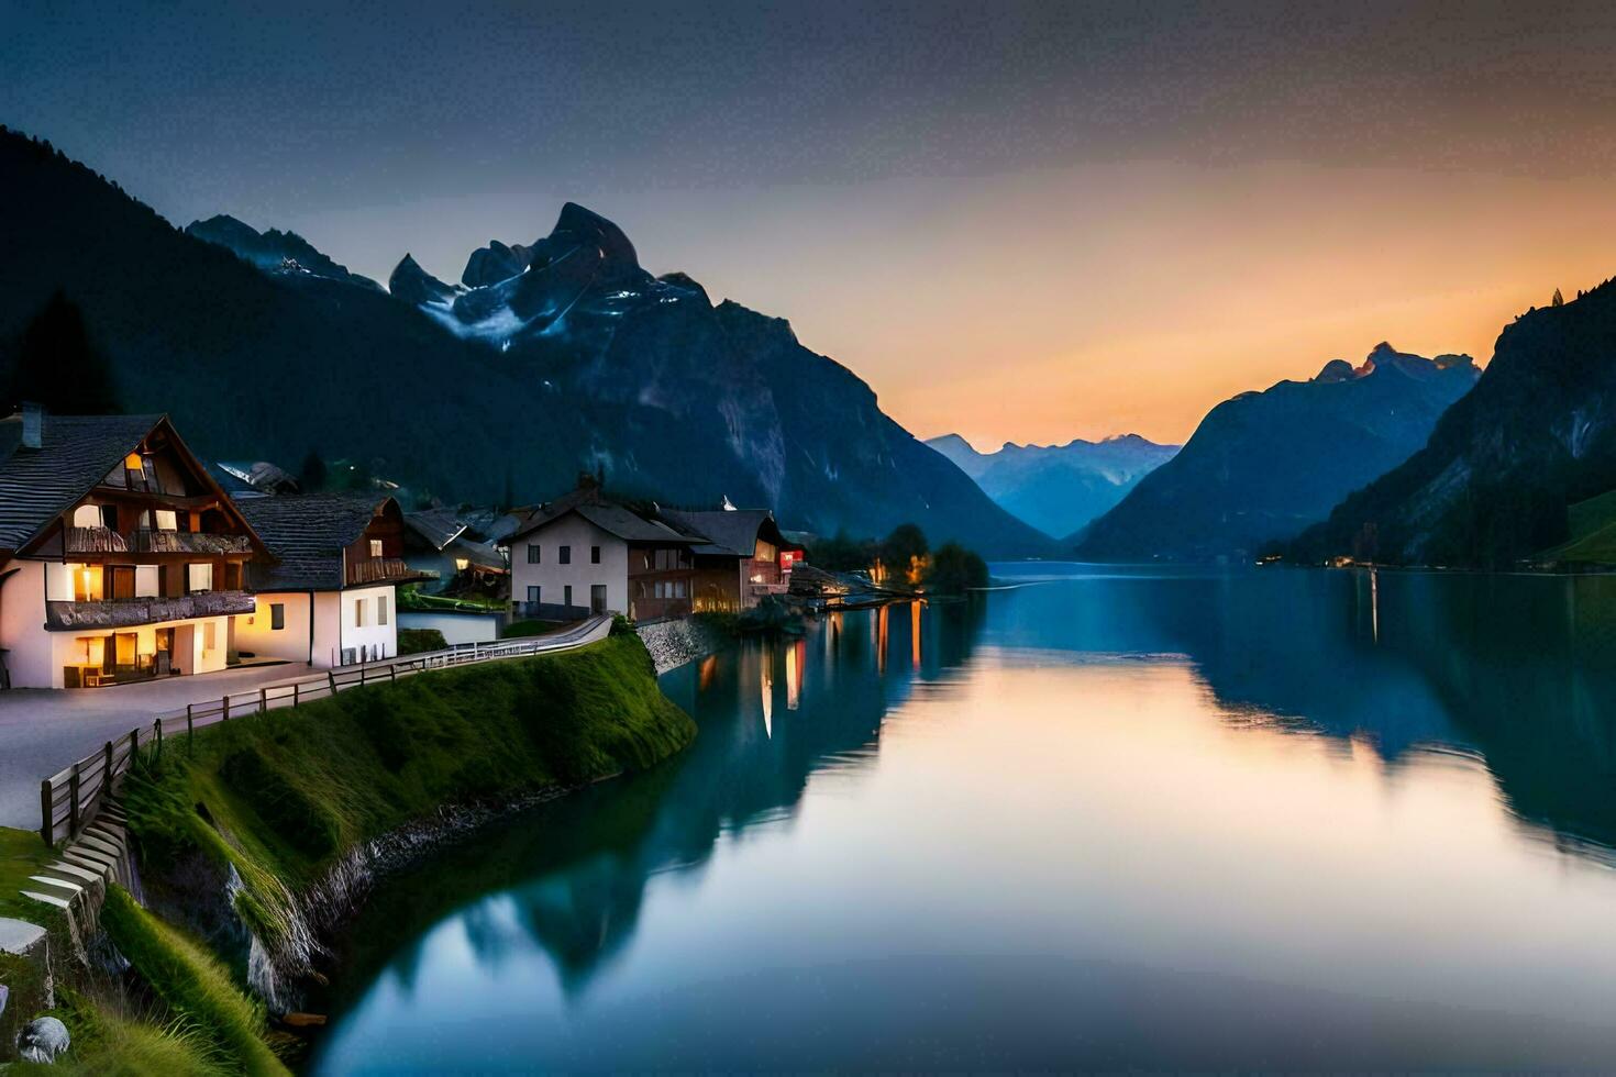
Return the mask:
<svg viewBox="0 0 1616 1077">
<path fill-rule="evenodd" d="M 1212 409 L 1176 457 L 1075 534 L 1096 560 L 1248 559 L 1324 520 L 1409 459 L 1480 371 L 1469 355 L 1424 358 L 1377 346 Z"/>
</svg>

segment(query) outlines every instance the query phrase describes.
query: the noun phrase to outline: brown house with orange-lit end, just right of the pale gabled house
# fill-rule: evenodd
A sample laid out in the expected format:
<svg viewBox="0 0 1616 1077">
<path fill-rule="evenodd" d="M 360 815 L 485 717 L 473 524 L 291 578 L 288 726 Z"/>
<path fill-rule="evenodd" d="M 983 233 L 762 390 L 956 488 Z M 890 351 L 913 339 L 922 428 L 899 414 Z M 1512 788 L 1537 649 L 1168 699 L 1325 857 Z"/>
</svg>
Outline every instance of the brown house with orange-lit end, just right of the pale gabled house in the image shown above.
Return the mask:
<svg viewBox="0 0 1616 1077">
<path fill-rule="evenodd" d="M 695 557 L 695 612 L 740 612 L 768 596 L 785 594 L 803 546 L 781 533 L 768 509 L 667 509 L 663 518 L 706 543 Z"/>
</svg>

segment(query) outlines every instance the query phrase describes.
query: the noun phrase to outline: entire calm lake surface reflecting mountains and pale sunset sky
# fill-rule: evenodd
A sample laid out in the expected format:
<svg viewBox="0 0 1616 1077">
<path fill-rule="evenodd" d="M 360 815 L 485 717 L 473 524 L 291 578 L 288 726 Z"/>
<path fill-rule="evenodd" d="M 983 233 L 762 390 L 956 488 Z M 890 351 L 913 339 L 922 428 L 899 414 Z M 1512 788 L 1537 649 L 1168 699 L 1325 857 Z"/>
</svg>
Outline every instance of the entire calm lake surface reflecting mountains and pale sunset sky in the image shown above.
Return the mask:
<svg viewBox="0 0 1616 1077">
<path fill-rule="evenodd" d="M 667 675 L 314 1067 L 1616 1069 L 1616 580 L 995 572 Z"/>
</svg>

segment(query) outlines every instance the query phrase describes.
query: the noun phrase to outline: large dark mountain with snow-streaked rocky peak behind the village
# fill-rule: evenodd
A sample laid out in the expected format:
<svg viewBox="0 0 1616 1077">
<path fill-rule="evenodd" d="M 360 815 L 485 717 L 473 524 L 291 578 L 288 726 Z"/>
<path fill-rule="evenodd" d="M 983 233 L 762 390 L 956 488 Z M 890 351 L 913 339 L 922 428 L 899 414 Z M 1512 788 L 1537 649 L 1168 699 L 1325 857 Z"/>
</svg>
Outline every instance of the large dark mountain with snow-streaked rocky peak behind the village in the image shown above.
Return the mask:
<svg viewBox="0 0 1616 1077">
<path fill-rule="evenodd" d="M 263 271 L 236 254 L 255 250 L 246 233 L 228 229 L 226 249 L 178 231 L 3 129 L 0 191 L 0 378 L 60 289 L 123 407 L 171 413 L 207 459 L 296 465 L 312 450 L 473 502 L 549 497 L 603 468 L 624 496 L 727 496 L 798 530 L 913 520 L 986 552 L 1047 549 L 785 321 L 650 276 L 582 207 L 530 247 L 473 254 L 475 286 L 404 258 L 388 294 L 318 258 L 323 274 Z"/>
</svg>

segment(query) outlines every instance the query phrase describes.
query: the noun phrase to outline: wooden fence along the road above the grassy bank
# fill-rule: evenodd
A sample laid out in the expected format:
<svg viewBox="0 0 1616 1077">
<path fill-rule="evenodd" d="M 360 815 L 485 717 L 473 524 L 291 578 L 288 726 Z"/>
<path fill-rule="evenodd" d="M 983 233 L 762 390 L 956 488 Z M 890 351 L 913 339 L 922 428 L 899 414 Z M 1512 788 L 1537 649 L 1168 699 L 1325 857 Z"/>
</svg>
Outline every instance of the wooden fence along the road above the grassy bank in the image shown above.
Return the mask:
<svg viewBox="0 0 1616 1077">
<path fill-rule="evenodd" d="M 296 707 L 314 699 L 326 699 L 349 688 L 391 683 L 428 670 L 569 651 L 604 639 L 609 631 L 611 617 L 591 617 L 575 628 L 549 636 L 462 643 L 443 651 L 346 665 L 318 675 L 263 685 L 250 691 L 229 693 L 207 702 L 192 702 L 184 710 L 154 715 L 150 725 L 136 727 L 128 735 L 107 741 L 99 751 L 39 783 L 39 835 L 45 844 L 55 844 L 61 838 L 76 838 L 95 819 L 115 783 L 129 770 L 144 746 L 155 746 L 162 751 L 165 740 L 191 736 L 202 727 L 249 714 Z M 97 688 L 92 691 L 116 689 Z"/>
</svg>

